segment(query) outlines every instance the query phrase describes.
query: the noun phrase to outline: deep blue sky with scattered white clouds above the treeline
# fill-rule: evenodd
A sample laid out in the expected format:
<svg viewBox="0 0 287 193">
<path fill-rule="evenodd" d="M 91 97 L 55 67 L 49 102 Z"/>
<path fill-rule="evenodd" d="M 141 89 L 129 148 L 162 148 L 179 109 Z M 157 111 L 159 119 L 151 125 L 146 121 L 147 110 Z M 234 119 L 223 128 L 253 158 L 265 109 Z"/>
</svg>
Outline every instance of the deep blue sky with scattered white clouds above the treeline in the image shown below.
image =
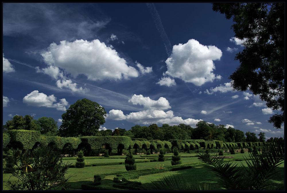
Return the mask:
<svg viewBox="0 0 287 193">
<path fill-rule="evenodd" d="M 101 129 L 199 120 L 267 138 L 277 113 L 228 77 L 243 50 L 210 3 L 3 3 L 3 124 L 52 117 L 87 98 Z"/>
</svg>

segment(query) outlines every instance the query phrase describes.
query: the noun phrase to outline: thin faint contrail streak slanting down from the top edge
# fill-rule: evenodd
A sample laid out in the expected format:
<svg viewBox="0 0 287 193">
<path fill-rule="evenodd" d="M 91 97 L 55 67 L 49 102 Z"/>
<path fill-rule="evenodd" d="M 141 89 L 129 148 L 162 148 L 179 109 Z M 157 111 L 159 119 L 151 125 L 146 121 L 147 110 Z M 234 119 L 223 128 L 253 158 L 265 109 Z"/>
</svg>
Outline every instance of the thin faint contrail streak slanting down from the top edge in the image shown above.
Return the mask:
<svg viewBox="0 0 287 193">
<path fill-rule="evenodd" d="M 168 40 L 168 37 L 164 31 L 164 27 L 162 26 L 162 22 L 160 20 L 160 15 L 158 14 L 158 11 L 156 10 L 156 7 L 154 6 L 153 3 L 146 3 L 146 5 L 150 9 L 150 13 L 152 14 L 152 18 L 154 19 L 154 23 L 156 24 L 156 28 L 157 28 L 158 32 L 160 33 L 160 37 L 162 38 L 166 53 L 168 54 L 168 57 L 169 57 L 172 53 L 172 46 L 171 46 L 170 41 Z"/>
</svg>

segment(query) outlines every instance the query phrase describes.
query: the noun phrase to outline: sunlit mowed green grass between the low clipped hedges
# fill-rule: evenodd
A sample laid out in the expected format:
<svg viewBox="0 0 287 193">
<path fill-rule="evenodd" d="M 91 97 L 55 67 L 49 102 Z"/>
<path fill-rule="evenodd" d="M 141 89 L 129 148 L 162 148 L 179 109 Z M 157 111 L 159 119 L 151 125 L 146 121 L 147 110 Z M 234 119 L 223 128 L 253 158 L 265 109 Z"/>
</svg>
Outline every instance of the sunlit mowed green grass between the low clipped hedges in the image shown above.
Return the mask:
<svg viewBox="0 0 287 193">
<path fill-rule="evenodd" d="M 181 158 L 182 164 L 188 164 L 188 163 L 197 163 L 199 162 L 198 157 L 196 157 L 196 154 L 181 154 L 183 157 Z M 233 156 L 235 159 L 240 158 L 249 158 L 248 153 L 236 153 L 235 155 L 228 155 L 224 154 L 225 156 Z M 172 154 L 165 154 L 165 157 L 171 157 Z M 193 156 L 193 157 L 184 157 L 184 156 Z M 85 157 L 86 162 L 90 162 L 90 164 L 94 163 L 111 163 L 111 162 L 124 162 L 125 159 L 113 159 L 114 156 L 111 156 L 110 158 L 100 159 L 100 157 Z M 115 157 L 125 157 L 125 156 L 115 156 Z M 135 158 L 142 158 L 140 155 L 134 155 Z M 153 154 L 151 157 L 146 156 L 146 158 L 157 158 L 158 154 Z M 145 156 L 144 156 L 145 158 Z M 143 160 L 143 159 L 136 159 L 136 160 Z M 64 158 L 64 161 L 69 161 L 70 163 L 75 163 L 76 158 Z M 238 163 L 238 167 L 243 164 L 247 165 L 245 161 L 234 161 L 234 163 Z M 164 162 L 146 162 L 146 163 L 137 163 L 137 170 L 140 169 L 146 169 L 146 168 L 155 168 L 156 166 L 164 165 L 170 166 L 171 161 L 164 161 Z M 82 184 L 90 184 L 90 182 L 94 181 L 94 175 L 96 174 L 107 174 L 111 172 L 125 172 L 125 165 L 106 165 L 106 166 L 94 166 L 94 167 L 84 167 L 84 168 L 69 168 L 67 170 L 66 176 L 69 175 L 75 175 L 72 178 L 69 179 L 69 183 L 71 184 L 72 189 L 80 189 Z M 282 163 L 278 167 L 278 174 L 275 178 L 273 178 L 273 183 L 283 183 L 284 184 L 284 163 Z M 133 180 L 137 182 L 141 182 L 143 186 L 149 187 L 151 185 L 151 180 L 156 181 L 160 178 L 163 178 L 164 176 L 169 175 L 175 175 L 178 177 L 183 176 L 185 179 L 189 179 L 191 182 L 195 183 L 196 185 L 202 186 L 204 183 L 211 184 L 211 190 L 220 190 L 221 188 L 218 186 L 218 183 L 216 183 L 216 177 L 213 172 L 208 171 L 207 169 L 204 169 L 202 167 L 196 167 L 191 169 L 185 169 L 185 170 L 179 170 L 179 171 L 169 171 L 164 173 L 158 173 L 158 174 L 152 174 L 147 176 L 140 176 L 139 179 Z M 5 181 L 7 181 L 10 177 L 10 174 L 3 174 L 3 190 L 8 190 L 5 187 Z M 113 178 L 115 175 L 112 176 L 106 176 L 105 180 L 102 180 L 102 184 L 105 186 L 112 186 L 113 185 Z M 10 180 L 12 180 L 11 178 Z M 114 190 L 119 190 L 114 188 Z"/>
</svg>

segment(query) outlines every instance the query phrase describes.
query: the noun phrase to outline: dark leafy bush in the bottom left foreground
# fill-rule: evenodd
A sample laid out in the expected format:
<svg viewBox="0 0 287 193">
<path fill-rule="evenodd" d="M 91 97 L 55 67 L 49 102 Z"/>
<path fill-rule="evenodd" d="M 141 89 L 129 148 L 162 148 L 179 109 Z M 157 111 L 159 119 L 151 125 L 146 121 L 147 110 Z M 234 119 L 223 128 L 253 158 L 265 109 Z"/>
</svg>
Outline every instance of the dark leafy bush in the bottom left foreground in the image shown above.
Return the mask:
<svg viewBox="0 0 287 193">
<path fill-rule="evenodd" d="M 10 190 L 67 190 L 65 176 L 71 164 L 62 161 L 61 153 L 53 147 L 34 150 L 13 150 L 11 162 L 15 164 L 11 175 L 17 180 L 7 182 Z"/>
</svg>

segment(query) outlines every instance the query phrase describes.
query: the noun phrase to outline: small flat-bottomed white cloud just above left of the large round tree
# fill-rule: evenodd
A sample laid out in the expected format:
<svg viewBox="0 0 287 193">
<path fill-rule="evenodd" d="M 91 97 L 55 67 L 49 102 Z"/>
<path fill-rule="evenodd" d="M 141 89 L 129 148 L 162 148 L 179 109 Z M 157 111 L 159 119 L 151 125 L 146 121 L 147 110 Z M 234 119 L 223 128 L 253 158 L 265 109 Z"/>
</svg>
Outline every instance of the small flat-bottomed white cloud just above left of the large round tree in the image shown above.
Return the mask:
<svg viewBox="0 0 287 193">
<path fill-rule="evenodd" d="M 44 93 L 39 93 L 37 90 L 27 94 L 23 98 L 23 102 L 29 106 L 56 108 L 61 111 L 65 111 L 66 107 L 69 106 L 65 98 L 60 99 L 60 102 L 56 103 L 57 98 L 54 95 L 47 96 Z"/>
</svg>

